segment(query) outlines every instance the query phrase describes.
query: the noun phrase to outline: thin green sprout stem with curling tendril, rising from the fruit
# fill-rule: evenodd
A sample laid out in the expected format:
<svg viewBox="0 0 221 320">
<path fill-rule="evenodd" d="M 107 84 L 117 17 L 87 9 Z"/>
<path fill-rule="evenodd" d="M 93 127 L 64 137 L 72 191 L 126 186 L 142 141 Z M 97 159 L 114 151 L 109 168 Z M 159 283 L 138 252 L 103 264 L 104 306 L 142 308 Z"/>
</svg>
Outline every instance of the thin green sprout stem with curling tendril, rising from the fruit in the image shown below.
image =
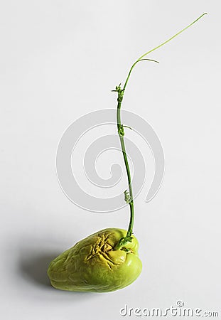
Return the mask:
<svg viewBox="0 0 221 320">
<path fill-rule="evenodd" d="M 205 13 L 206 14 L 206 13 Z M 166 43 L 168 43 L 169 41 L 171 41 L 173 38 L 176 38 L 176 36 L 178 36 L 180 33 L 182 33 L 183 31 L 185 31 L 186 29 L 190 28 L 190 26 L 193 26 L 193 24 L 198 21 L 200 18 L 202 18 L 203 16 L 205 16 L 205 14 L 202 14 L 199 18 L 197 18 L 195 21 L 193 21 L 192 23 L 190 23 L 188 26 L 186 26 L 185 28 L 183 28 L 181 31 L 179 31 L 178 33 L 176 33 L 174 36 L 172 36 L 171 38 L 169 38 L 168 40 L 164 41 L 163 43 L 161 43 L 159 46 L 149 50 L 148 52 L 144 53 L 144 55 L 141 55 L 140 58 L 138 58 L 135 63 L 131 66 L 130 70 L 129 70 L 129 74 L 127 75 L 126 81 L 124 83 L 124 87 L 122 89 L 121 85 L 116 87 L 116 90 L 112 90 L 112 91 L 116 91 L 118 92 L 118 97 L 117 97 L 117 130 L 118 130 L 118 134 L 119 134 L 119 139 L 120 139 L 120 143 L 122 146 L 122 154 L 124 156 L 124 164 L 126 167 L 126 174 L 127 174 L 127 180 L 128 180 L 128 185 L 129 185 L 129 193 L 127 193 L 127 191 L 124 191 L 124 196 L 125 196 L 125 201 L 126 203 L 129 203 L 129 207 L 130 207 L 130 221 L 129 221 L 129 228 L 127 230 L 126 233 L 126 237 L 123 237 L 122 239 L 119 240 L 119 242 L 117 243 L 117 245 L 114 247 L 115 250 L 119 250 L 121 247 L 124 247 L 124 245 L 126 244 L 126 242 L 131 242 L 132 241 L 132 233 L 133 233 L 133 228 L 134 228 L 134 199 L 133 199 L 133 190 L 132 190 L 132 186 L 131 186 L 131 174 L 130 174 L 130 169 L 129 169 L 129 164 L 128 164 L 128 160 L 127 160 L 127 156 L 126 156 L 126 148 L 125 148 L 125 144 L 124 144 L 124 126 L 122 124 L 122 120 L 121 120 L 121 107 L 122 107 L 122 100 L 124 97 L 124 92 L 126 89 L 126 85 L 127 82 L 129 81 L 129 77 L 131 75 L 132 70 L 134 69 L 136 63 L 139 63 L 139 61 L 143 61 L 143 60 L 149 60 L 149 61 L 153 61 L 158 63 L 158 61 L 156 60 L 152 60 L 152 59 L 144 59 L 144 57 L 146 55 L 148 55 L 149 53 L 153 52 L 154 50 L 161 48 L 161 46 L 164 46 Z"/>
</svg>

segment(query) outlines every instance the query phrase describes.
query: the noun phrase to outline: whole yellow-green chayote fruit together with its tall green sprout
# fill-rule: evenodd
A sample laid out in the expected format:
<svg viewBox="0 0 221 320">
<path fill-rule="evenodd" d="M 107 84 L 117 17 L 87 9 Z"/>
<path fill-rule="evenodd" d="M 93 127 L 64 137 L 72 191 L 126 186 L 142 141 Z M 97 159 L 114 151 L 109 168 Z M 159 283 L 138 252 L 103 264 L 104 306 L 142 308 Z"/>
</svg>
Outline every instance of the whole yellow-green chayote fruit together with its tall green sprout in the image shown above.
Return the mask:
<svg viewBox="0 0 221 320">
<path fill-rule="evenodd" d="M 198 21 L 202 16 L 193 23 Z M 130 221 L 128 230 L 108 228 L 89 235 L 80 240 L 73 247 L 56 257 L 48 267 L 48 277 L 56 289 L 80 292 L 112 292 L 122 289 L 139 277 L 142 264 L 138 257 L 138 241 L 134 237 L 134 198 L 131 186 L 131 174 L 124 144 L 124 128 L 128 128 L 121 122 L 121 107 L 126 85 L 131 71 L 139 61 L 156 60 L 144 58 L 149 53 L 165 45 L 187 28 L 193 25 L 190 23 L 176 35 L 169 38 L 149 50 L 135 61 L 129 70 L 124 86 L 115 88 L 117 92 L 117 132 L 122 147 L 124 164 L 128 178 L 129 191 L 124 191 L 124 199 L 129 204 Z"/>
</svg>

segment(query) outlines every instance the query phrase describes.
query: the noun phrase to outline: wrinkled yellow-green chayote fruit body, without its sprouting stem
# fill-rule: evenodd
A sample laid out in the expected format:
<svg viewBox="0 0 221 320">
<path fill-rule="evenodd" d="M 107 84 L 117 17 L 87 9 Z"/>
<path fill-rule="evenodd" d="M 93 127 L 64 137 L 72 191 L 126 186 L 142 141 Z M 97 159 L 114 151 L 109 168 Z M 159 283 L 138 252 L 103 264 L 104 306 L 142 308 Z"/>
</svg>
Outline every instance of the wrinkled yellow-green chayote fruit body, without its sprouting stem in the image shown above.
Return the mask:
<svg viewBox="0 0 221 320">
<path fill-rule="evenodd" d="M 120 250 L 113 249 L 125 236 L 126 230 L 109 228 L 77 242 L 50 262 L 48 277 L 53 287 L 111 292 L 134 282 L 142 269 L 138 241 L 133 235 L 132 242 L 127 242 Z"/>
</svg>

